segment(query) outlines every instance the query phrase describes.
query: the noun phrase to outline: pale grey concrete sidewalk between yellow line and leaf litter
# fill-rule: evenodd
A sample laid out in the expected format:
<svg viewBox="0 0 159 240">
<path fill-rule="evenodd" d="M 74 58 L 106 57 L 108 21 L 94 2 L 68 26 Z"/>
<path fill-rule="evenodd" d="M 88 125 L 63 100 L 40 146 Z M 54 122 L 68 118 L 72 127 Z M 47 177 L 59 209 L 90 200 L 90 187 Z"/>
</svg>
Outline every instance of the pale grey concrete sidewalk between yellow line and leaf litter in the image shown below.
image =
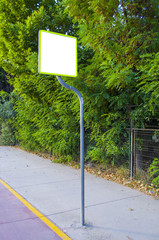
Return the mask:
<svg viewBox="0 0 159 240">
<path fill-rule="evenodd" d="M 159 239 L 159 200 L 138 191 L 86 173 L 81 227 L 80 170 L 0 147 L 0 178 L 72 240 Z"/>
</svg>

